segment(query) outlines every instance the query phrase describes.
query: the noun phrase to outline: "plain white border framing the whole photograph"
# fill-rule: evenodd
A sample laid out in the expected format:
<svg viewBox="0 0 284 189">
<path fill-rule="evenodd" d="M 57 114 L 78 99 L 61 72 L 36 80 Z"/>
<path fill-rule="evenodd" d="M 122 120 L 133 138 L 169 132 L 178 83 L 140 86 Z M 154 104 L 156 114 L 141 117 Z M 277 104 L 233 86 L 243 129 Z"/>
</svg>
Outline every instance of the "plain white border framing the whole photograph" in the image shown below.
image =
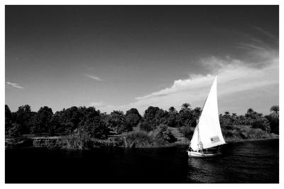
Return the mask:
<svg viewBox="0 0 284 189">
<path fill-rule="evenodd" d="M 144 189 L 145 187 L 151 187 L 151 188 L 156 188 L 156 187 L 163 187 L 163 188 L 173 188 L 173 187 L 178 187 L 178 188 L 193 188 L 193 187 L 198 187 L 198 188 L 212 188 L 213 187 L 218 187 L 218 188 L 268 188 L 268 187 L 273 187 L 273 188 L 283 188 L 283 180 L 281 180 L 281 178 L 283 179 L 283 161 L 281 161 L 281 159 L 283 159 L 283 125 L 281 125 L 283 123 L 283 114 L 281 113 L 282 110 L 282 105 L 283 105 L 283 98 L 281 98 L 284 93 L 283 93 L 283 81 L 284 81 L 284 76 L 283 76 L 283 64 L 281 64 L 283 62 L 283 44 L 284 44 L 284 40 L 283 40 L 283 11 L 284 11 L 284 5 L 283 5 L 284 1 L 278 1 L 278 0 L 232 0 L 232 1 L 210 1 L 210 0 L 200 0 L 200 1 L 185 1 L 185 0 L 175 0 L 175 1 L 168 1 L 168 0 L 144 0 L 144 1 L 133 1 L 133 0 L 124 0 L 124 1 L 114 1 L 114 0 L 104 0 L 104 1 L 90 1 L 90 0 L 80 0 L 80 1 L 75 1 L 75 0 L 50 0 L 50 1 L 35 1 L 35 0 L 27 0 L 27 1 L 23 1 L 23 0 L 2 0 L 0 1 L 0 27 L 1 27 L 1 33 L 0 33 L 0 40 L 1 40 L 1 45 L 0 45 L 0 76 L 1 76 L 1 82 L 0 82 L 0 86 L 1 86 L 1 107 L 0 108 L 0 120 L 1 120 L 1 137 L 0 137 L 0 188 L 50 188 L 50 187 L 55 187 L 55 188 L 62 188 L 62 187 L 66 187 L 66 188 L 78 188 L 78 187 L 83 187 L 83 188 L 123 188 L 123 189 L 127 189 L 127 188 L 138 188 L 138 189 Z M 133 184 L 119 184 L 119 185 L 114 185 L 114 184 L 96 184 L 96 185 L 92 185 L 92 184 L 67 184 L 67 185 L 62 185 L 62 184 L 55 184 L 55 185 L 38 185 L 38 184 L 25 184 L 25 185 L 18 185 L 18 184 L 4 184 L 5 180 L 4 180 L 4 176 L 5 176 L 5 156 L 4 156 L 4 149 L 5 149 L 5 144 L 4 144 L 4 138 L 5 138 L 5 132 L 4 132 L 4 104 L 5 104 L 5 5 L 26 5 L 26 4 L 37 4 L 37 5 L 47 5 L 47 4 L 53 4 L 53 5 L 67 5 L 67 4 L 74 4 L 74 5 L 88 5 L 88 4 L 200 4 L 200 5 L 222 5 L 222 4 L 227 4 L 227 5 L 261 5 L 261 4 L 265 4 L 265 5 L 279 5 L 279 21 L 280 21 L 280 25 L 279 25 L 279 105 L 280 105 L 280 146 L 279 146 L 279 179 L 280 179 L 280 184 L 253 184 L 253 185 L 246 185 L 246 184 L 235 184 L 235 185 L 227 185 L 227 184 L 214 184 L 214 185 L 206 185 L 206 184 L 178 184 L 178 185 L 173 185 L 173 184 L 159 184 L 159 185 L 133 185 Z"/>
</svg>

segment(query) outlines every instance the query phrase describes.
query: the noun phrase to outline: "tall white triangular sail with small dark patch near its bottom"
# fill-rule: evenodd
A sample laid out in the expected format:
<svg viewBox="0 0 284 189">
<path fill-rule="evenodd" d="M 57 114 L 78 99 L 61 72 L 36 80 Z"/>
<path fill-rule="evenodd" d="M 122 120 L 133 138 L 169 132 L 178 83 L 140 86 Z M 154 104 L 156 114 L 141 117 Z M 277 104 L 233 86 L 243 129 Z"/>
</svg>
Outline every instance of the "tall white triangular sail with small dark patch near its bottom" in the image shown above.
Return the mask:
<svg viewBox="0 0 284 189">
<path fill-rule="evenodd" d="M 200 120 L 192 136 L 190 147 L 197 151 L 200 149 L 200 143 L 203 149 L 216 147 L 226 144 L 224 141 L 218 114 L 217 103 L 217 76 L 214 79 L 212 87 L 205 101 Z"/>
</svg>

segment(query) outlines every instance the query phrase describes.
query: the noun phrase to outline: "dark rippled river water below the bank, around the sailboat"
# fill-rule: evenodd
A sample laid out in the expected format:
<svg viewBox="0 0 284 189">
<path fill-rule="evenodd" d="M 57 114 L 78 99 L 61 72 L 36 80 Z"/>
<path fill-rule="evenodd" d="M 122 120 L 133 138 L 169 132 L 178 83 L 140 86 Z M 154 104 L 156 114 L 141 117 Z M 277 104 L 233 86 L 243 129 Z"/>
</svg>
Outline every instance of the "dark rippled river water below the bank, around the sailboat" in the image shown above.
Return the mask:
<svg viewBox="0 0 284 189">
<path fill-rule="evenodd" d="M 6 183 L 279 183 L 279 140 L 224 145 L 188 158 L 187 146 L 85 151 L 6 149 Z"/>
</svg>

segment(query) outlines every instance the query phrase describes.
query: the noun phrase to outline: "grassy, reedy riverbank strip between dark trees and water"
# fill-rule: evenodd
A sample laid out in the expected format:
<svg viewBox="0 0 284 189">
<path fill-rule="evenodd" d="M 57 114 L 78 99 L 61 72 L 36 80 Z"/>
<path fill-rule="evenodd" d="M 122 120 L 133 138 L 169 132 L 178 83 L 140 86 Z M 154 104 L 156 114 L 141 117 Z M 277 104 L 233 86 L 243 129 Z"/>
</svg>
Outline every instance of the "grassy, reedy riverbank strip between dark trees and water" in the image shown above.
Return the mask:
<svg viewBox="0 0 284 189">
<path fill-rule="evenodd" d="M 168 135 L 161 134 L 170 131 Z M 193 132 L 193 130 L 192 130 Z M 251 128 L 249 125 L 228 126 L 222 128 L 225 141 L 239 142 L 262 139 L 277 139 L 278 134 L 267 133 L 259 128 Z M 45 147 L 48 149 L 92 149 L 94 147 L 172 147 L 175 144 L 190 144 L 192 134 L 184 134 L 177 127 L 168 127 L 167 130 L 155 130 L 145 132 L 135 128 L 132 132 L 124 132 L 109 136 L 107 139 L 96 139 L 84 133 L 73 133 L 57 137 L 6 137 L 6 147 Z M 174 138 L 174 140 L 173 140 Z"/>
</svg>

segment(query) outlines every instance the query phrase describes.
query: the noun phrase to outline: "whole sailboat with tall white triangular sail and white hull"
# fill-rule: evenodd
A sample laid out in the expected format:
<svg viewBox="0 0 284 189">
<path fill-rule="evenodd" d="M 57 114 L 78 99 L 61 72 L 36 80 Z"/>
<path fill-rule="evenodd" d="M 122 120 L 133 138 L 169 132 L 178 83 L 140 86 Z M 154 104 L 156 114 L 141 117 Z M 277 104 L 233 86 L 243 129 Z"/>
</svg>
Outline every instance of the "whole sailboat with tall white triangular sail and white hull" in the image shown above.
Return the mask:
<svg viewBox="0 0 284 189">
<path fill-rule="evenodd" d="M 221 154 L 221 145 L 226 144 L 219 122 L 217 103 L 217 76 L 213 81 L 195 132 L 187 150 L 190 157 L 216 156 Z"/>
</svg>

